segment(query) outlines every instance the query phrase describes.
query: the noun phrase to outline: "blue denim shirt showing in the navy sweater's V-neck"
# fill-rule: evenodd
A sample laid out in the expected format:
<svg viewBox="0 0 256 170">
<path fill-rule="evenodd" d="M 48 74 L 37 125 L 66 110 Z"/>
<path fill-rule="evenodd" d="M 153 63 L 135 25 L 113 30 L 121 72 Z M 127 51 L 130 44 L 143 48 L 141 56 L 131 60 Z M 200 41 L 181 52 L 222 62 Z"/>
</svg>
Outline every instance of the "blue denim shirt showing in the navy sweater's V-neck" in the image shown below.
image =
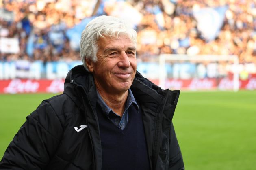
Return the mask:
<svg viewBox="0 0 256 170">
<path fill-rule="evenodd" d="M 128 123 L 128 110 L 132 104 L 135 106 L 137 113 L 139 113 L 139 106 L 136 103 L 135 98 L 130 89 L 128 90 L 128 96 L 124 107 L 124 114 L 122 117 L 117 115 L 115 112 L 113 112 L 113 110 L 111 110 L 111 108 L 108 107 L 108 105 L 104 102 L 98 91 L 97 96 L 97 102 L 98 104 L 100 104 L 103 112 L 106 113 L 108 119 L 111 120 L 121 130 L 123 130 Z"/>
</svg>

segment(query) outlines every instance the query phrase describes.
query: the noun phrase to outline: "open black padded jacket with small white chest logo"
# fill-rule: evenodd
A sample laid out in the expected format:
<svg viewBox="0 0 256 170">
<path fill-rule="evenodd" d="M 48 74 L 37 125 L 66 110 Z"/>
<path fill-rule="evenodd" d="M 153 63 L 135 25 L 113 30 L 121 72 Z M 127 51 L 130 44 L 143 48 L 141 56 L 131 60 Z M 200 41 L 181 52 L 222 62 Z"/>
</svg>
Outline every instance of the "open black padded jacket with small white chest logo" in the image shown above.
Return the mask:
<svg viewBox="0 0 256 170">
<path fill-rule="evenodd" d="M 162 90 L 136 73 L 132 93 L 143 110 L 152 170 L 182 170 L 171 119 L 179 91 Z M 44 100 L 9 144 L 0 169 L 100 170 L 102 155 L 93 76 L 82 65 L 69 71 L 64 93 Z M 77 132 L 74 127 L 87 125 Z"/>
</svg>

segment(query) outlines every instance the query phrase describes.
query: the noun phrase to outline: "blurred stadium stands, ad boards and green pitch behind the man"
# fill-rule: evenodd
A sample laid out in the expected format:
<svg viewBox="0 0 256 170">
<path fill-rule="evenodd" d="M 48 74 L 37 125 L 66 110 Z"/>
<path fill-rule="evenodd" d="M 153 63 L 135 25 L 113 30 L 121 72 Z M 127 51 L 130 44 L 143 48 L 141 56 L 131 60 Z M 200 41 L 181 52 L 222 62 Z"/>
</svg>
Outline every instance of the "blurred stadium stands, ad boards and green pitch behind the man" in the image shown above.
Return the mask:
<svg viewBox="0 0 256 170">
<path fill-rule="evenodd" d="M 81 64 L 80 34 L 97 15 L 122 17 L 135 26 L 138 70 L 152 81 L 157 82 L 161 54 L 238 56 L 238 92 L 202 86 L 230 77 L 232 69 L 213 74 L 203 63 L 204 73 L 198 74 L 198 63 L 168 67 L 171 79 L 204 80 L 181 91 L 174 125 L 187 169 L 255 170 L 255 0 L 2 0 L 0 157 L 26 115 L 54 95 L 49 92 L 60 93 L 67 70 Z M 189 74 L 174 76 L 174 68 Z M 230 84 L 224 83 L 229 90 Z"/>
</svg>

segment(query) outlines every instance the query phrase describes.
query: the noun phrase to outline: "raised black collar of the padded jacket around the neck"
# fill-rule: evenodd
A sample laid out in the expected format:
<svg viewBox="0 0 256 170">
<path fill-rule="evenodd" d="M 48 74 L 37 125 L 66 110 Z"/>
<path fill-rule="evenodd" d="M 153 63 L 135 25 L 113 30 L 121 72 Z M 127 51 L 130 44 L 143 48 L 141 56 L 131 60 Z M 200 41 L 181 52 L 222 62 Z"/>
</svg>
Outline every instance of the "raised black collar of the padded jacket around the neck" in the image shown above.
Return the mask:
<svg viewBox="0 0 256 170">
<path fill-rule="evenodd" d="M 156 109 L 166 95 L 163 89 L 144 78 L 138 71 L 130 89 L 140 104 L 150 103 L 150 109 L 153 111 L 157 111 Z M 68 72 L 64 84 L 64 93 L 81 109 L 82 98 L 86 96 L 93 109 L 96 107 L 95 98 L 97 95 L 93 75 L 85 70 L 83 65 L 75 66 Z M 82 94 L 86 96 L 82 97 Z"/>
</svg>

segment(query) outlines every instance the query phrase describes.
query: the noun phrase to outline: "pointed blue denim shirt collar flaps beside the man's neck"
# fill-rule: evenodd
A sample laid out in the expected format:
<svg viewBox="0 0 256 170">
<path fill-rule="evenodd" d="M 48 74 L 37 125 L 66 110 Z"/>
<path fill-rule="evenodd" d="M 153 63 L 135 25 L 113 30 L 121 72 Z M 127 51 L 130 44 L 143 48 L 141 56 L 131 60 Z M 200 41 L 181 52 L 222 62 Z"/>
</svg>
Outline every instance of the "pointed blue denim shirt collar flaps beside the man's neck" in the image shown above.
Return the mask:
<svg viewBox="0 0 256 170">
<path fill-rule="evenodd" d="M 113 112 L 113 110 L 111 110 L 111 108 L 108 107 L 108 105 L 104 102 L 104 100 L 103 100 L 102 97 L 100 96 L 98 90 L 96 90 L 96 91 L 97 91 L 97 97 L 98 97 L 98 98 L 97 98 L 97 102 L 98 102 L 98 104 L 100 104 L 102 110 L 103 110 L 104 112 L 106 112 L 107 115 L 108 115 L 111 111 Z M 133 105 L 135 106 L 137 112 L 139 112 L 139 106 L 138 106 L 138 104 L 137 104 L 137 102 L 136 102 L 136 100 L 135 100 L 135 98 L 134 98 L 134 96 L 133 96 L 133 94 L 132 94 L 132 91 L 131 91 L 131 89 L 128 89 L 128 96 L 127 96 L 127 100 L 126 100 L 126 104 L 125 104 L 124 110 L 126 111 L 126 110 L 131 106 L 131 104 L 133 104 Z M 115 112 L 113 112 L 113 113 L 115 113 Z"/>
</svg>

